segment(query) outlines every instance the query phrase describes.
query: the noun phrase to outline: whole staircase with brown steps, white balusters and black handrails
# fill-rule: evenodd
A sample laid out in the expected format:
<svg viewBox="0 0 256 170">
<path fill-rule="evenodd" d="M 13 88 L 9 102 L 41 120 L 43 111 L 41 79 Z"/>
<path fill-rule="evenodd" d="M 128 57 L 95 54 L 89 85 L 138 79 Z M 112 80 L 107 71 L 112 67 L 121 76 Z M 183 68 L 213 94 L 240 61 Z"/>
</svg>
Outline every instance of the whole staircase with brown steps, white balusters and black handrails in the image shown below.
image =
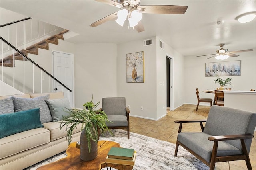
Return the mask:
<svg viewBox="0 0 256 170">
<path fill-rule="evenodd" d="M 70 99 L 72 90 L 36 63 L 35 61 L 38 61 L 36 58 L 33 61 L 28 57 L 28 54 L 38 55 L 39 48 L 49 50 L 49 43 L 58 45 L 58 39 L 64 40 L 63 35 L 68 30 L 38 20 L 37 26 L 34 27 L 32 23 L 35 20 L 33 18 L 24 18 L 0 25 L 1 34 L 5 36 L 4 38 L 0 36 L 0 82 L 1 84 L 5 83 L 6 86 L 10 86 L 14 90 L 18 90 L 20 93 L 48 93 L 56 91 L 56 86 L 60 86 L 61 88 L 58 91 L 64 92 L 65 98 Z M 18 28 L 18 25 L 16 25 L 16 23 L 20 22 L 23 22 L 23 24 L 19 24 L 22 25 L 22 28 Z M 31 25 L 28 23 L 31 23 Z M 28 29 L 26 29 L 26 24 L 28 24 Z M 3 30 L 7 30 L 5 33 L 2 31 L 2 27 L 4 27 Z M 16 27 L 16 31 L 12 27 Z M 10 31 L 9 28 L 11 28 Z M 36 31 L 32 31 L 35 29 Z M 28 31 L 31 32 L 29 33 Z M 16 46 L 13 44 L 16 44 Z M 15 62 L 15 60 L 19 60 L 19 62 Z M 44 76 L 46 76 L 45 79 Z M 8 92 L 9 90 L 6 91 L 10 93 Z M 70 102 L 72 103 L 72 101 Z"/>
</svg>

